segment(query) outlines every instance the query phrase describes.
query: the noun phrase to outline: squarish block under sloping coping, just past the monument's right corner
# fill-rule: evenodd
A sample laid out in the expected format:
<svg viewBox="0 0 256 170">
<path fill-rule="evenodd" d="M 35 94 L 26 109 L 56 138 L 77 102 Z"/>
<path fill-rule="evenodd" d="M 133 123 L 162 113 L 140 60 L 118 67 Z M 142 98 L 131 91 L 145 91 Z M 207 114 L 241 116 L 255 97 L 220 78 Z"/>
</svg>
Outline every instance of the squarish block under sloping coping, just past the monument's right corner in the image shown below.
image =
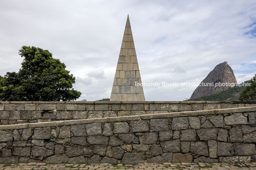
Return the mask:
<svg viewBox="0 0 256 170">
<path fill-rule="evenodd" d="M 151 119 L 150 131 L 168 131 L 169 122 L 168 119 Z"/>
</svg>

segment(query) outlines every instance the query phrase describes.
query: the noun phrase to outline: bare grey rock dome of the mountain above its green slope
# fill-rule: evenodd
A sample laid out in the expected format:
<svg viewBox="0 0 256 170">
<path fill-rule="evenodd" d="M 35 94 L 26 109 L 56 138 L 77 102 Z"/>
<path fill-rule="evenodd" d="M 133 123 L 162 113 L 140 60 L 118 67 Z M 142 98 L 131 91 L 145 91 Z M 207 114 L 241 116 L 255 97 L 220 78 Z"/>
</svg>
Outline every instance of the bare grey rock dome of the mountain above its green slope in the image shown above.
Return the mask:
<svg viewBox="0 0 256 170">
<path fill-rule="evenodd" d="M 201 86 L 198 86 L 194 90 L 190 99 L 195 99 L 202 96 L 214 94 L 216 92 L 224 91 L 230 88 L 229 86 L 216 87 L 216 83 L 219 83 L 219 82 L 220 83 L 237 83 L 234 72 L 231 69 L 231 67 L 227 64 L 227 62 L 218 64 L 201 82 Z"/>
</svg>

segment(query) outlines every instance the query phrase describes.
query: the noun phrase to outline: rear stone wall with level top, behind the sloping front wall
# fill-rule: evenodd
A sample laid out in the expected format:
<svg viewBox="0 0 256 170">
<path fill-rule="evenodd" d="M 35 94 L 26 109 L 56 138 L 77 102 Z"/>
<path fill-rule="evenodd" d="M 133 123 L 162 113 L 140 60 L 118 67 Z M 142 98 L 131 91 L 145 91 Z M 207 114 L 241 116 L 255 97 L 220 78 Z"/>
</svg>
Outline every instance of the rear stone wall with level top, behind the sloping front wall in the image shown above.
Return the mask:
<svg viewBox="0 0 256 170">
<path fill-rule="evenodd" d="M 256 106 L 256 102 L 0 102 L 0 125 Z"/>
</svg>

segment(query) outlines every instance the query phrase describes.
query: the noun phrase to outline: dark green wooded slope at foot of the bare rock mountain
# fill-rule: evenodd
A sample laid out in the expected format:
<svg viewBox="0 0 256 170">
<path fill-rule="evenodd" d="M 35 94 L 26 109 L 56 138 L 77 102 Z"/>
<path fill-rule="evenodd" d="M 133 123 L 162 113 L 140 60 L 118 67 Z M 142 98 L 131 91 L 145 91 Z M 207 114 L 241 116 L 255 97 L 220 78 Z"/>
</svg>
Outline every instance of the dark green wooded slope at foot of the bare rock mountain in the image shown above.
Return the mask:
<svg viewBox="0 0 256 170">
<path fill-rule="evenodd" d="M 246 83 L 247 81 L 245 81 Z M 239 93 L 241 90 L 243 90 L 245 86 L 243 87 L 230 87 L 227 90 L 219 91 L 214 94 L 202 96 L 195 99 L 190 99 L 189 101 L 235 101 L 239 98 Z"/>
</svg>

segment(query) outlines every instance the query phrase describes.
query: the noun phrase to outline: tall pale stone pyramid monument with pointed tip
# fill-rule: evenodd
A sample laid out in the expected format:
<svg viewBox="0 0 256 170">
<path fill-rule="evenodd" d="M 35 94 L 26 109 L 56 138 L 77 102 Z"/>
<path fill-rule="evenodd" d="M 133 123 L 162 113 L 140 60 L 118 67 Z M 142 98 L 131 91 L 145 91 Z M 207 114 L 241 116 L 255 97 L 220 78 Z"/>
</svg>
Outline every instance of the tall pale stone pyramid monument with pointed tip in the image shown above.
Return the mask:
<svg viewBox="0 0 256 170">
<path fill-rule="evenodd" d="M 117 62 L 110 101 L 145 101 L 129 16 Z"/>
</svg>

